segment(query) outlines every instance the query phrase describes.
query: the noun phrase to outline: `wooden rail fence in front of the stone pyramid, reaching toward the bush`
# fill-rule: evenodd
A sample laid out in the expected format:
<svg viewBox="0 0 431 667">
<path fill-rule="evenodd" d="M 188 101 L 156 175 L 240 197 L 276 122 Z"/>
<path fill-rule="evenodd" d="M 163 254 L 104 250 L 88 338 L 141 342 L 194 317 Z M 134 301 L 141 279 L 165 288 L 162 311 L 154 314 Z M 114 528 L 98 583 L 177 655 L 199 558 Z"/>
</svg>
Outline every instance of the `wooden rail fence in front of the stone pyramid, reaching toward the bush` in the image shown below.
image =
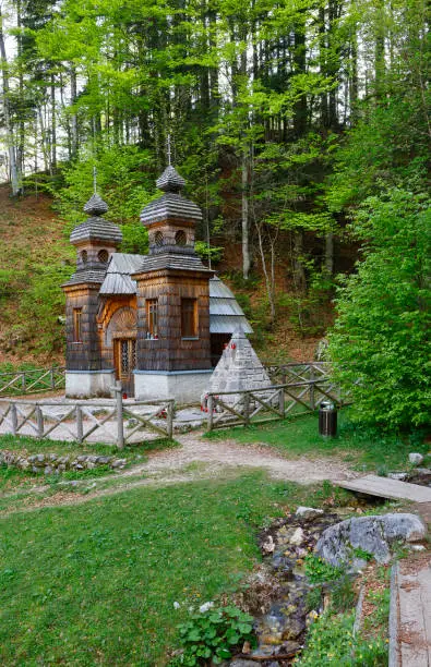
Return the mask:
<svg viewBox="0 0 431 667">
<path fill-rule="evenodd" d="M 249 426 L 283 420 L 289 413 L 299 415 L 316 410 L 322 401 L 336 407 L 346 404 L 339 388 L 330 378 L 309 379 L 264 389 L 224 391 L 207 396 L 207 430 L 227 426 Z"/>
</svg>

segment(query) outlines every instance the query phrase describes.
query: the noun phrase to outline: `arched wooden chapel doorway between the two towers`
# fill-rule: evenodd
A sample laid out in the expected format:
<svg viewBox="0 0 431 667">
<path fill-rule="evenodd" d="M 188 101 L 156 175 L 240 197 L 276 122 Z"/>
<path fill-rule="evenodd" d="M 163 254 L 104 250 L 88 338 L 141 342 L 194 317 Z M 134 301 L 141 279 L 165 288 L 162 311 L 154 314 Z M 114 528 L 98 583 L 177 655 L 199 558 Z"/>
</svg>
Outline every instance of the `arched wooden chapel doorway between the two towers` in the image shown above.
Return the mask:
<svg viewBox="0 0 431 667">
<path fill-rule="evenodd" d="M 116 378 L 123 391 L 134 396 L 133 371 L 136 366 L 136 311 L 131 307 L 118 308 L 106 329 L 106 347 L 112 348 Z"/>
</svg>

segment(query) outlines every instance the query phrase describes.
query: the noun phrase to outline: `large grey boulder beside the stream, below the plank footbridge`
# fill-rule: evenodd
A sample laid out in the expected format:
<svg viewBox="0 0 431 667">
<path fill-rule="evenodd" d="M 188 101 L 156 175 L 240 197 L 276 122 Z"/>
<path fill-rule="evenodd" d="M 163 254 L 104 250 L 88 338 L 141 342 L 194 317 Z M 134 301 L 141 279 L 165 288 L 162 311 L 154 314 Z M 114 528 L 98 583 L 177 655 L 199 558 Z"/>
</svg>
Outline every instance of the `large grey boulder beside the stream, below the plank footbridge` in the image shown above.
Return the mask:
<svg viewBox="0 0 431 667">
<path fill-rule="evenodd" d="M 318 541 L 316 554 L 339 567 L 354 560 L 355 549 L 360 548 L 384 563 L 391 559 L 392 542 L 417 542 L 424 534 L 424 525 L 416 514 L 355 517 L 326 529 Z"/>
</svg>

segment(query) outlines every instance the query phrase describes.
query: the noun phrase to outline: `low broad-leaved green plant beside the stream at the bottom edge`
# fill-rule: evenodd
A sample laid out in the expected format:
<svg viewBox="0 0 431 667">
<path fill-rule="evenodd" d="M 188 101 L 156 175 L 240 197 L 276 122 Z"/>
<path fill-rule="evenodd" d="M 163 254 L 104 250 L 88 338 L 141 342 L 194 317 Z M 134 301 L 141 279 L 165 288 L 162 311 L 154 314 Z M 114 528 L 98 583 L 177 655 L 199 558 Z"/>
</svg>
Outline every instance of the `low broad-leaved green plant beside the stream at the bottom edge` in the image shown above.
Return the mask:
<svg viewBox="0 0 431 667">
<path fill-rule="evenodd" d="M 180 664 L 193 667 L 207 660 L 219 665 L 232 656 L 243 642 L 255 645 L 253 617 L 238 607 L 211 608 L 194 613 L 191 619 L 179 627 L 180 643 L 184 647 Z"/>
</svg>

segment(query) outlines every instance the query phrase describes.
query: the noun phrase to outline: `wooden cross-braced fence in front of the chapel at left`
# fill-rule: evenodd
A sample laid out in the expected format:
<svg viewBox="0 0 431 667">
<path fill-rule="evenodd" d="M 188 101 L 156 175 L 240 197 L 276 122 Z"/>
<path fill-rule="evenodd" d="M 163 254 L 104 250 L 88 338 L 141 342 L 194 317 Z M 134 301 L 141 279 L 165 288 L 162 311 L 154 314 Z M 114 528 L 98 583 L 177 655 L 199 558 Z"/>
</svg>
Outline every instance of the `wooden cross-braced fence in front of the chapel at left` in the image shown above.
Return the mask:
<svg viewBox="0 0 431 667">
<path fill-rule="evenodd" d="M 23 401 L 0 399 L 0 433 L 55 438 L 77 442 L 125 444 L 147 440 L 148 436 L 172 438 L 173 399 L 123 401 L 120 385 L 115 400 Z"/>
</svg>

